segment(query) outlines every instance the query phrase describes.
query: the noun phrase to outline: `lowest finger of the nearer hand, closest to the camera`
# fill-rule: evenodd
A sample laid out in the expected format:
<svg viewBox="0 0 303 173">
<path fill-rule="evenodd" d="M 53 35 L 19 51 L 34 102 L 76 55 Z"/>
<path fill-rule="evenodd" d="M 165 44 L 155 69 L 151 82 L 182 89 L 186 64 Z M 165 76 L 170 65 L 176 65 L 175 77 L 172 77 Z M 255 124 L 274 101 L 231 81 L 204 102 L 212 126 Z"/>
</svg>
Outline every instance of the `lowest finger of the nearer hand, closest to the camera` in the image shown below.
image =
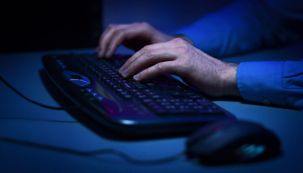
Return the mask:
<svg viewBox="0 0 303 173">
<path fill-rule="evenodd" d="M 159 75 L 175 74 L 177 68 L 176 61 L 160 62 L 136 74 L 133 79 L 135 81 L 144 81 Z"/>
</svg>

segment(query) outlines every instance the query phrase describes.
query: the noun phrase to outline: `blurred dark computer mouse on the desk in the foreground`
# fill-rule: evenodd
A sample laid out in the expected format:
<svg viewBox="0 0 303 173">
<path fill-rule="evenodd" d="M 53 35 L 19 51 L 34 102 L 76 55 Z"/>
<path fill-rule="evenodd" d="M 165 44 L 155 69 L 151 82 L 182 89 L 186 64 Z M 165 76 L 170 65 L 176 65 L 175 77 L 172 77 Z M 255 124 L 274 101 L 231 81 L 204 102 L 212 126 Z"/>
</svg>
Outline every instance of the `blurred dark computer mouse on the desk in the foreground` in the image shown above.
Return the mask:
<svg viewBox="0 0 303 173">
<path fill-rule="evenodd" d="M 281 154 L 273 132 L 243 120 L 207 124 L 190 135 L 186 145 L 188 158 L 200 158 L 205 164 L 253 162 Z"/>
</svg>

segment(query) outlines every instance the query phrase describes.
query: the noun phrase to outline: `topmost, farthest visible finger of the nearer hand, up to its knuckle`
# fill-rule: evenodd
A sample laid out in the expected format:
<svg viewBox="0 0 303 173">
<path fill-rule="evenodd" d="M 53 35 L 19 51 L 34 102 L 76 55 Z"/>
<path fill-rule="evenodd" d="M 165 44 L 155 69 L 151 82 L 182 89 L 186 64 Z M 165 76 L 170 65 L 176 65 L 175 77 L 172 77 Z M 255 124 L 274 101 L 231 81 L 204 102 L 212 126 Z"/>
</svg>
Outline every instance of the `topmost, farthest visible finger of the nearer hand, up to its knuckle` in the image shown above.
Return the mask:
<svg viewBox="0 0 303 173">
<path fill-rule="evenodd" d="M 130 57 L 124 65 L 119 69 L 119 73 L 123 73 L 127 67 L 132 64 L 136 59 L 141 57 L 143 54 L 145 54 L 148 51 L 155 50 L 155 49 L 172 49 L 178 47 L 179 44 L 176 43 L 176 41 L 171 40 L 164 43 L 156 43 L 151 45 L 144 46 L 140 51 L 136 52 L 132 57 Z"/>
</svg>

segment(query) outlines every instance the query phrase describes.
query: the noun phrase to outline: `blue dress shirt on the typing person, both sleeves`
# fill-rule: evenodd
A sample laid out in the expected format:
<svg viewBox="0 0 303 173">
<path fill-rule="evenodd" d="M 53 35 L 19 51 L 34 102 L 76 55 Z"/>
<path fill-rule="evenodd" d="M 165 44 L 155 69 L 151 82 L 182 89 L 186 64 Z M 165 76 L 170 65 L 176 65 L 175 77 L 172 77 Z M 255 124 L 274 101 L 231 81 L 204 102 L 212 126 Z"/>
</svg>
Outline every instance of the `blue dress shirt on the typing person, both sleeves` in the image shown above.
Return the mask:
<svg viewBox="0 0 303 173">
<path fill-rule="evenodd" d="M 303 3 L 238 1 L 174 34 L 188 36 L 214 57 L 284 45 L 303 38 Z M 237 84 L 245 100 L 303 111 L 303 60 L 242 62 Z"/>
</svg>

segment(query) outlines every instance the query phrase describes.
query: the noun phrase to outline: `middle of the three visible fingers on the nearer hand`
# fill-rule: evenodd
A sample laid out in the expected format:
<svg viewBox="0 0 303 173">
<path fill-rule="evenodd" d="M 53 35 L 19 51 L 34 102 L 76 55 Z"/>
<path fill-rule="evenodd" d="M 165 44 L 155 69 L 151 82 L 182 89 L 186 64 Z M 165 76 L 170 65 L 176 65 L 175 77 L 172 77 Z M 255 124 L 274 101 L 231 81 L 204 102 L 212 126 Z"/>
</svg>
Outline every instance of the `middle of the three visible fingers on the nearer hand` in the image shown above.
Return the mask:
<svg viewBox="0 0 303 173">
<path fill-rule="evenodd" d="M 137 71 L 144 69 L 150 65 L 154 65 L 160 62 L 172 61 L 177 58 L 177 51 L 174 49 L 155 49 L 146 52 L 141 57 L 137 58 L 132 64 L 130 64 L 122 72 L 122 76 L 125 78 L 130 77 Z"/>
</svg>

